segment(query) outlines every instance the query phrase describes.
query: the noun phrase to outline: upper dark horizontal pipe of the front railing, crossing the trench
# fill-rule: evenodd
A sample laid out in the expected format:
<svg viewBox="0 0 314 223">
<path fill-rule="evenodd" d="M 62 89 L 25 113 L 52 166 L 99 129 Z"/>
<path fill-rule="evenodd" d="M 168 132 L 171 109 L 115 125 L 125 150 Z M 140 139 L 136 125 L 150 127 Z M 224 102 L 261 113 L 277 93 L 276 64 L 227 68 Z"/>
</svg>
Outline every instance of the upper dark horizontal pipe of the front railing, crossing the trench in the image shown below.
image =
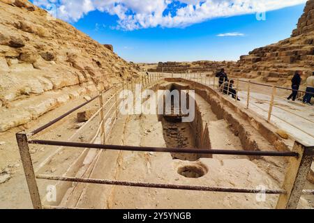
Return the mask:
<svg viewBox="0 0 314 223">
<path fill-rule="evenodd" d="M 77 148 L 98 148 L 115 151 L 140 151 L 140 152 L 158 152 L 158 153 L 193 153 L 193 154 L 218 154 L 218 155 L 253 155 L 253 156 L 276 156 L 276 157 L 297 157 L 298 153 L 278 152 L 278 151 L 230 151 L 219 149 L 200 149 L 200 148 L 158 148 L 158 147 L 137 147 L 137 146 L 117 146 L 103 144 L 87 144 L 68 141 L 48 141 L 48 140 L 30 140 L 29 144 L 66 146 Z"/>
</svg>

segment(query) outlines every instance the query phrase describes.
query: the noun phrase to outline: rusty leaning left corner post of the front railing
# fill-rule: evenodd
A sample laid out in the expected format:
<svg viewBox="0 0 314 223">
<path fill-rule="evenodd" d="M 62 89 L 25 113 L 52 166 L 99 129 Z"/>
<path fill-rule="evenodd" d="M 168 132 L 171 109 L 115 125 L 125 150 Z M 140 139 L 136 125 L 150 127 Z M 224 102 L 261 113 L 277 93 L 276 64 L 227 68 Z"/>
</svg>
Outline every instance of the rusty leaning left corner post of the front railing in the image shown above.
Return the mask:
<svg viewBox="0 0 314 223">
<path fill-rule="evenodd" d="M 41 204 L 38 186 L 36 183 L 36 176 L 33 170 L 33 162 L 31 161 L 31 153 L 29 153 L 29 144 L 27 142 L 27 134 L 19 132 L 16 134 L 17 146 L 20 150 L 21 160 L 24 168 L 27 185 L 29 187 L 29 194 L 31 195 L 31 202 L 34 209 L 43 209 Z"/>
</svg>

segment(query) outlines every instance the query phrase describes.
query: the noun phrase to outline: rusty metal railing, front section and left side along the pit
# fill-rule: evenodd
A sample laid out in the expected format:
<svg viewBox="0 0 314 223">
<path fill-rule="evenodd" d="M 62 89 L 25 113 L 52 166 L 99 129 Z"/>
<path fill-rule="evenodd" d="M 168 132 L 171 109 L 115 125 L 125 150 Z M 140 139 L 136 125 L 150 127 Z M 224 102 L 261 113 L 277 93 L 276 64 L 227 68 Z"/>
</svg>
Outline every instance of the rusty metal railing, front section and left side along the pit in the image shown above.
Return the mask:
<svg viewBox="0 0 314 223">
<path fill-rule="evenodd" d="M 140 83 L 148 88 L 149 86 L 154 86 L 158 84 L 160 80 L 163 79 L 163 75 L 154 74 L 154 75 L 144 75 L 134 79 L 130 84 L 128 82 L 122 83 L 122 88 L 119 89 L 118 86 L 114 89 L 114 95 L 103 103 L 103 93 L 100 93 L 96 97 L 92 98 L 88 102 L 75 107 L 71 111 L 63 114 L 59 118 L 54 119 L 50 123 L 43 125 L 42 127 L 33 130 L 33 132 L 27 134 L 25 132 L 19 132 L 16 134 L 17 144 L 20 149 L 20 155 L 22 159 L 22 164 L 24 167 L 24 173 L 27 178 L 27 185 L 29 187 L 29 193 L 31 195 L 31 201 L 33 203 L 33 208 L 42 209 L 42 208 L 66 208 L 66 207 L 56 207 L 56 206 L 45 206 L 40 199 L 40 194 L 38 191 L 37 180 L 58 180 L 66 182 L 76 182 L 76 183 L 93 183 L 100 185 L 119 185 L 124 187 L 152 187 L 152 188 L 163 188 L 169 190 L 193 190 L 193 191 L 206 191 L 206 192 L 232 192 L 232 193 L 249 193 L 249 194 L 280 194 L 276 208 L 297 208 L 297 204 L 302 194 L 314 194 L 313 190 L 303 190 L 306 183 L 306 176 L 311 169 L 311 163 L 313 161 L 313 149 L 314 147 L 303 146 L 302 144 L 295 142 L 294 147 L 291 152 L 279 152 L 279 151 L 226 151 L 219 149 L 181 149 L 181 148 L 154 148 L 154 147 L 136 147 L 136 146 L 117 146 L 117 145 L 107 145 L 106 139 L 109 137 L 110 132 L 105 132 L 104 121 L 107 115 L 111 114 L 114 120 L 116 121 L 119 118 L 118 110 L 118 91 L 121 89 L 130 89 L 134 90 L 133 84 Z M 215 86 L 215 84 L 214 84 Z M 90 143 L 78 143 L 72 142 L 73 136 L 77 132 L 82 132 L 87 125 L 85 123 L 75 134 L 70 137 L 68 141 L 49 141 L 49 140 L 40 140 L 40 139 L 31 139 L 39 132 L 50 128 L 58 121 L 66 116 L 73 114 L 81 107 L 88 105 L 94 100 L 98 99 L 99 109 L 92 116 L 87 123 L 93 120 L 96 116 L 99 116 L 100 122 L 98 130 L 95 134 L 94 139 Z M 107 111 L 107 114 L 104 114 L 104 107 L 107 106 L 107 103 L 111 100 L 114 100 L 112 107 Z M 112 110 L 114 109 L 114 110 Z M 113 111 L 113 112 L 112 112 Z M 112 128 L 114 123 L 112 123 Z M 112 129 L 111 128 L 111 129 Z M 100 134 L 101 144 L 94 144 L 96 137 Z M 49 145 L 49 146 L 63 146 L 70 148 L 96 148 L 98 150 L 115 150 L 115 151 L 138 151 L 138 152 L 158 152 L 158 153 L 193 153 L 193 154 L 220 154 L 220 155 L 248 155 L 248 156 L 272 156 L 272 157 L 290 157 L 290 163 L 285 176 L 283 183 L 283 188 L 269 189 L 266 191 L 257 190 L 255 188 L 227 188 L 227 187 L 207 187 L 202 185 L 173 185 L 173 184 L 158 184 L 158 183 L 140 183 L 140 182 L 126 182 L 119 180 L 103 180 L 103 179 L 93 179 L 93 178 L 75 178 L 70 176 L 48 176 L 44 174 L 36 174 L 33 168 L 33 162 L 31 160 L 31 153 L 29 152 L 29 144 L 40 144 L 40 145 Z M 60 149 L 59 148 L 59 149 Z M 54 153 L 55 154 L 55 153 Z M 45 163 L 41 164 L 43 166 Z"/>
</svg>

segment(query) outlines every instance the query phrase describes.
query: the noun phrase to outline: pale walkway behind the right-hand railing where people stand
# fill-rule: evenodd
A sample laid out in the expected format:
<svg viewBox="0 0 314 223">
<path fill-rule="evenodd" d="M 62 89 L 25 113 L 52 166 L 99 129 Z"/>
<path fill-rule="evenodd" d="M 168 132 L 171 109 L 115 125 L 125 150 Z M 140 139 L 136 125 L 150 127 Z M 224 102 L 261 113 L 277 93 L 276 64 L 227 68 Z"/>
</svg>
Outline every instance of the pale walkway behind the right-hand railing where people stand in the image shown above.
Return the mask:
<svg viewBox="0 0 314 223">
<path fill-rule="evenodd" d="M 174 74 L 174 77 L 180 77 L 179 74 Z M 168 77 L 172 75 L 168 74 Z M 196 76 L 195 76 L 196 77 Z M 197 78 L 192 77 L 193 81 L 200 81 Z M 241 79 L 248 81 L 248 79 Z M 216 79 L 216 84 L 218 80 Z M 211 77 L 203 78 L 202 83 L 207 86 L 214 86 L 214 80 Z M 236 87 L 237 84 L 234 84 Z M 241 99 L 241 105 L 246 106 L 248 86 L 246 83 L 239 84 L 239 98 Z M 264 119 L 268 118 L 269 103 L 271 100 L 272 88 L 268 86 L 251 85 L 251 99 L 249 109 L 256 112 Z M 271 123 L 276 127 L 285 130 L 290 134 L 290 137 L 300 141 L 306 146 L 314 145 L 314 109 L 311 106 L 304 105 L 300 101 L 292 102 L 286 100 L 291 91 L 284 89 L 278 89 L 276 91 L 276 98 L 274 100 L 274 107 L 271 116 Z M 227 95 L 225 95 L 227 98 Z M 229 96 L 232 100 L 231 95 Z"/>
</svg>

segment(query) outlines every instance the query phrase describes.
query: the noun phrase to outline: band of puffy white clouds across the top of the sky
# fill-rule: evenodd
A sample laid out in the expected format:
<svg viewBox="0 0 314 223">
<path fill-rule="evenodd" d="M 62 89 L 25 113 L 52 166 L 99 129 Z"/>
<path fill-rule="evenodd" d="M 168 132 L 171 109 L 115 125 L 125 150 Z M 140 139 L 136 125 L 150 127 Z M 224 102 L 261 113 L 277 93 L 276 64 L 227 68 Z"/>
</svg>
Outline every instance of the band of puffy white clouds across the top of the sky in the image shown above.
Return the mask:
<svg viewBox="0 0 314 223">
<path fill-rule="evenodd" d="M 165 14 L 174 0 L 34 0 L 38 6 L 56 5 L 56 15 L 76 22 L 99 10 L 117 15 L 116 29 L 134 30 L 156 26 L 185 27 L 216 17 L 260 13 L 305 3 L 306 0 L 178 0 L 181 5 Z M 176 2 L 178 2 L 176 1 Z M 104 21 L 99 21 L 104 22 Z"/>
</svg>

